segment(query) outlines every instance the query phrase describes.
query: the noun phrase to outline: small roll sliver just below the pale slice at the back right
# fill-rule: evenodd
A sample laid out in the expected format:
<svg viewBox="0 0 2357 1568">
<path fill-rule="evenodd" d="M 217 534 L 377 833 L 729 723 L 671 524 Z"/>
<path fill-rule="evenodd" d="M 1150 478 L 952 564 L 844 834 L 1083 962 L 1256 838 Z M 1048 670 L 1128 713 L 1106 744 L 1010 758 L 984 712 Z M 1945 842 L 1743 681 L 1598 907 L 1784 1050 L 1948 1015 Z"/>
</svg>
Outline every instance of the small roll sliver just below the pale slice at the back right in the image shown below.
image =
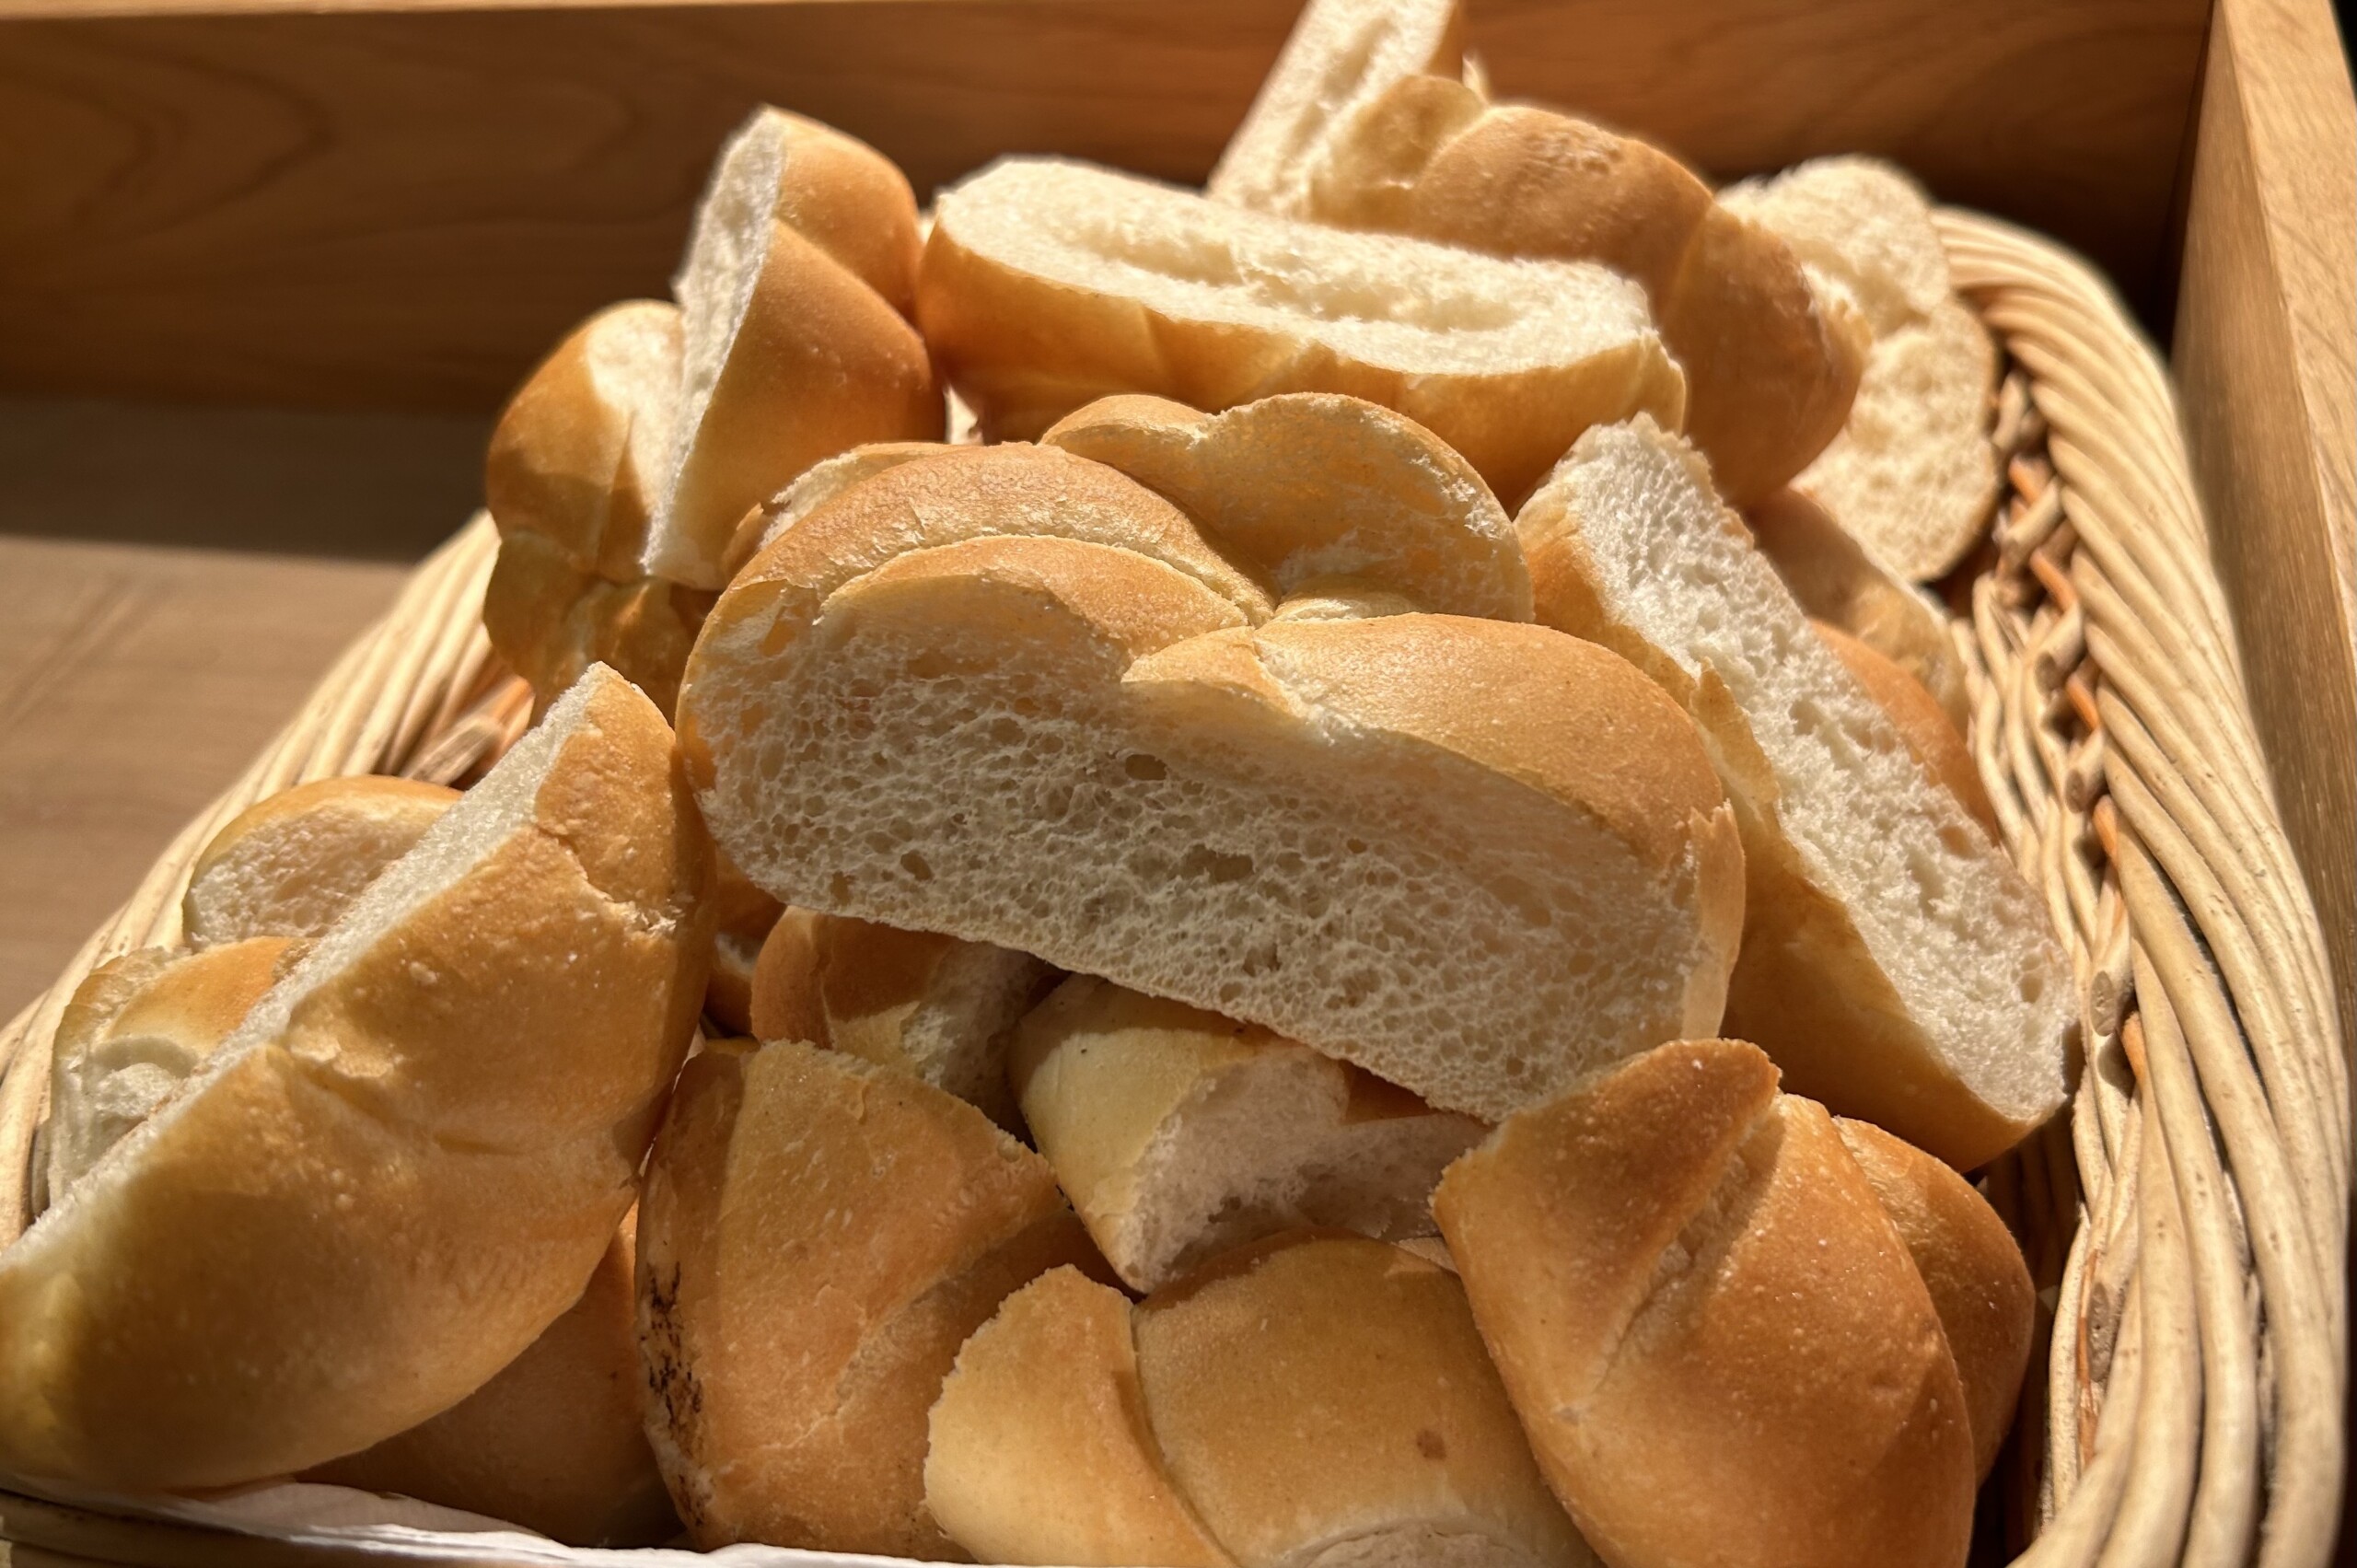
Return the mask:
<svg viewBox="0 0 2357 1568">
<path fill-rule="evenodd" d="M 1947 722 L 1959 733 L 1970 731 L 1973 698 L 1947 630 L 1947 611 L 1937 601 L 1890 575 L 1824 507 L 1798 490 L 1777 490 L 1744 512 L 1744 523 L 1813 620 L 1841 627 L 1919 679 Z"/>
</svg>

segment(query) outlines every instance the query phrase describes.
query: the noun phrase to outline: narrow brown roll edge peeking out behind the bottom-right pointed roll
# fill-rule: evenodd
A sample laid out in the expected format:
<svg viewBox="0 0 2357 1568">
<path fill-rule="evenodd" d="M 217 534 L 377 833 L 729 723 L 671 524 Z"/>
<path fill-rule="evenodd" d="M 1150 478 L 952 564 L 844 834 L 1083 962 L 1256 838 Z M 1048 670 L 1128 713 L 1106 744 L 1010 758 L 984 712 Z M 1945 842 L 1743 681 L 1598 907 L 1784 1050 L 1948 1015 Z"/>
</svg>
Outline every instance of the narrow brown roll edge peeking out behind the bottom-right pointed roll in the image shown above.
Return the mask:
<svg viewBox="0 0 2357 1568">
<path fill-rule="evenodd" d="M 1973 1476 L 1987 1481 L 2013 1427 L 2036 1327 L 2036 1287 L 2022 1247 L 1970 1181 L 1914 1144 L 1848 1118 L 1836 1118 L 1834 1129 L 1897 1226 L 1940 1313 L 1940 1332 L 1963 1379 Z"/>
</svg>

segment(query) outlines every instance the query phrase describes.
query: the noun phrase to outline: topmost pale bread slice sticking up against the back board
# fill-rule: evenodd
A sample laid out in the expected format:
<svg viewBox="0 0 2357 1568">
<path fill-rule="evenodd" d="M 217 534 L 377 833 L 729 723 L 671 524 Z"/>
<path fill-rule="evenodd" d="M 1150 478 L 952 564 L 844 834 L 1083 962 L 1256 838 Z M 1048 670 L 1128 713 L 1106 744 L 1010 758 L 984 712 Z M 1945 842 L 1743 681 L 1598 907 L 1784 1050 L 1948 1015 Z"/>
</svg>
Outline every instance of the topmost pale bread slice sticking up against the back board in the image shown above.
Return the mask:
<svg viewBox="0 0 2357 1568">
<path fill-rule="evenodd" d="M 1327 141 L 1405 75 L 1457 75 L 1457 0 L 1310 0 L 1228 137 L 1204 196 L 1280 217 L 1310 217 L 1308 184 Z"/>
</svg>

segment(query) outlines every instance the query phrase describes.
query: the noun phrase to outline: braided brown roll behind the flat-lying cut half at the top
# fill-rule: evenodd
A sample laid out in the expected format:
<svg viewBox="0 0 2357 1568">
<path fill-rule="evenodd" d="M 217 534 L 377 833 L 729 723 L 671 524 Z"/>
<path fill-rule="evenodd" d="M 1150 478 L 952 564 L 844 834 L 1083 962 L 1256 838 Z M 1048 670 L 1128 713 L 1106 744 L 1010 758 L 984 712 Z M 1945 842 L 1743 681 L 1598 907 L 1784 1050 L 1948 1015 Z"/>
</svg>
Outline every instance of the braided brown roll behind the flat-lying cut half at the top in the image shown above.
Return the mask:
<svg viewBox="0 0 2357 1568">
<path fill-rule="evenodd" d="M 1685 373 L 1685 431 L 1739 500 L 1808 467 L 1857 391 L 1867 330 L 1843 299 L 1676 158 L 1572 116 L 1402 78 L 1332 132 L 1303 215 L 1633 278 Z"/>
</svg>

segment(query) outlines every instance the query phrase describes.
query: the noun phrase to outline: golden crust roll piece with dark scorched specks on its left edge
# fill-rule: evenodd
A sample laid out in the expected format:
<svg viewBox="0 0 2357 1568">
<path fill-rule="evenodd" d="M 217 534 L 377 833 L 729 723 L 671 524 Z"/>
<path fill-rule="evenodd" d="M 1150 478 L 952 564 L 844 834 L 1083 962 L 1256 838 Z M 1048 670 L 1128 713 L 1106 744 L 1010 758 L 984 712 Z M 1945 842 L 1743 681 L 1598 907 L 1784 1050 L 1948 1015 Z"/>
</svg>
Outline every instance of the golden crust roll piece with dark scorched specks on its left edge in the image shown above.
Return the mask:
<svg viewBox="0 0 2357 1568">
<path fill-rule="evenodd" d="M 926 1410 L 1061 1264 L 1103 1269 L 1047 1162 L 973 1106 L 790 1040 L 705 1049 L 639 1205 L 648 1436 L 688 1535 L 950 1554 Z"/>
</svg>

